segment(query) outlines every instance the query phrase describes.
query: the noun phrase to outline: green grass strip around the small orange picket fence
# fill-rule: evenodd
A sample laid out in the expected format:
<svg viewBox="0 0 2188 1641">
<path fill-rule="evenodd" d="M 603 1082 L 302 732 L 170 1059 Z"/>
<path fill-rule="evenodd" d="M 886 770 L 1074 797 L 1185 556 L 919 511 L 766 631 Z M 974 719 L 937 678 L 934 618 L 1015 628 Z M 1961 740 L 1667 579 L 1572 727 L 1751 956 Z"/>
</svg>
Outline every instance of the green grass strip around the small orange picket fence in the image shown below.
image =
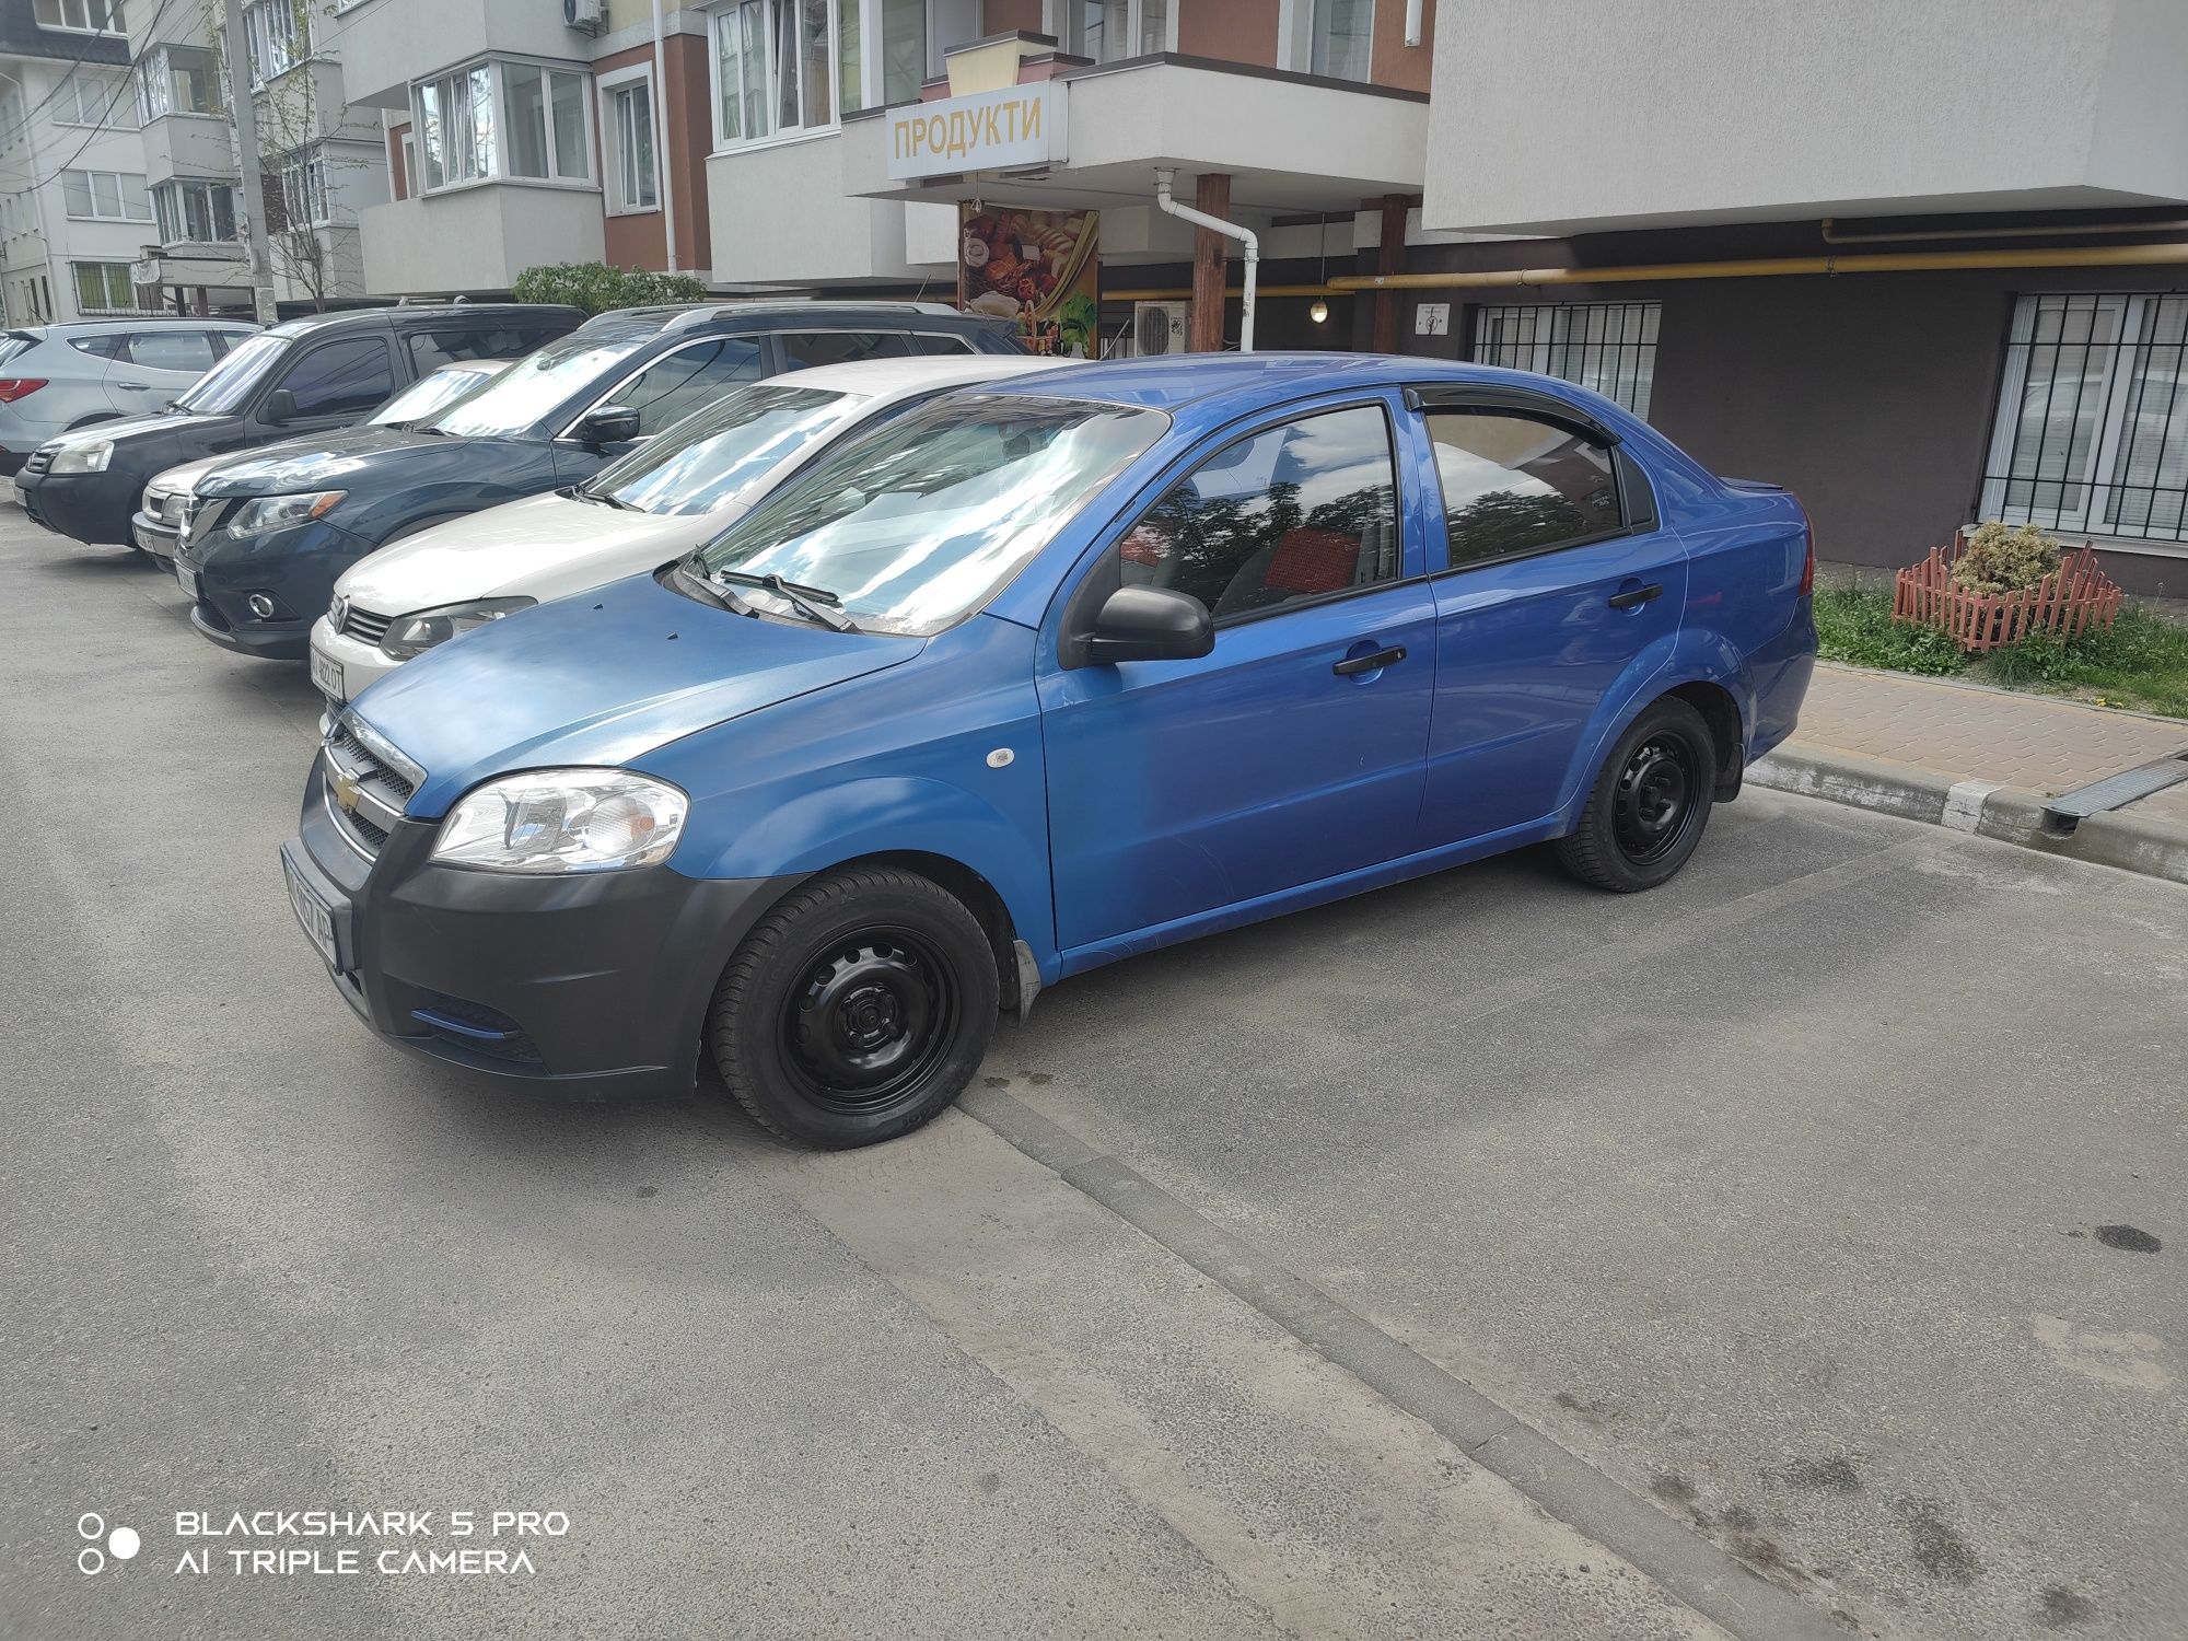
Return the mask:
<svg viewBox="0 0 2188 1641">
<path fill-rule="evenodd" d="M 1816 593 L 1825 661 L 1932 678 L 1963 674 L 2006 689 L 2074 696 L 2098 707 L 2188 718 L 2188 626 L 2129 604 L 2109 632 L 2061 643 L 2037 635 L 1987 656 L 1963 656 L 1943 632 L 1893 621 L 1890 593 L 1831 586 Z"/>
</svg>

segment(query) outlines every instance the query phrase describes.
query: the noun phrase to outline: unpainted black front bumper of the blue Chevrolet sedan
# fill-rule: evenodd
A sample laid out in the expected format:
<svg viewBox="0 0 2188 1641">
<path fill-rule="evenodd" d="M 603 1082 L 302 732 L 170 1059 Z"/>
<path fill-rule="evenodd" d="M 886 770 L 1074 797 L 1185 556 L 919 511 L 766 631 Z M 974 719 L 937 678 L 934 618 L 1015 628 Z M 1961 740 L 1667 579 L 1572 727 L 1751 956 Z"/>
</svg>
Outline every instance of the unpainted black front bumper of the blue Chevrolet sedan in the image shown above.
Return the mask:
<svg viewBox="0 0 2188 1641">
<path fill-rule="evenodd" d="M 368 858 L 328 812 L 324 768 L 313 764 L 282 862 L 326 908 L 328 974 L 376 1035 L 492 1076 L 691 1087 L 713 987 L 796 877 L 435 866 L 440 823 L 409 818 Z"/>
</svg>

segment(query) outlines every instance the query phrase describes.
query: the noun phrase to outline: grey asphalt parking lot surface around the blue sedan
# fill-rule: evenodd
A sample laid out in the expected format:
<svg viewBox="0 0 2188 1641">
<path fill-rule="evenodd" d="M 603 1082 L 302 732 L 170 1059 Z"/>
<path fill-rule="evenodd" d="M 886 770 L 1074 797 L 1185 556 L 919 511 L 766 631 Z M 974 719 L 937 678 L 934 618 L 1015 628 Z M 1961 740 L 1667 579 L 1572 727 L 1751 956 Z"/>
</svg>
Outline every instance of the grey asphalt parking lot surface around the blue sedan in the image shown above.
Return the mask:
<svg viewBox="0 0 2188 1641">
<path fill-rule="evenodd" d="M 2188 1632 L 2188 891 L 1750 792 L 1656 895 L 1074 980 L 803 1157 L 370 1041 L 313 722 L 0 508 L 0 1634 Z M 313 1508 L 433 1538 L 177 1521 Z"/>
</svg>

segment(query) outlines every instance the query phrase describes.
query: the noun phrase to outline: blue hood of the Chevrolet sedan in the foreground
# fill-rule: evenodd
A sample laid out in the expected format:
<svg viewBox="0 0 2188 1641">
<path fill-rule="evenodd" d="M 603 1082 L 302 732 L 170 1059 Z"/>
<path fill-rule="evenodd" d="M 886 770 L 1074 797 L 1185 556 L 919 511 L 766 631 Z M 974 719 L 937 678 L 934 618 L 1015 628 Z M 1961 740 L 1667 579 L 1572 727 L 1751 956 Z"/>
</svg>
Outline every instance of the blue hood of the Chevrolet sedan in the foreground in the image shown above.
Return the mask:
<svg viewBox="0 0 2188 1641">
<path fill-rule="evenodd" d="M 923 643 L 731 615 L 630 575 L 427 650 L 348 711 L 424 770 L 409 814 L 431 821 L 488 777 L 628 764 Z"/>
</svg>

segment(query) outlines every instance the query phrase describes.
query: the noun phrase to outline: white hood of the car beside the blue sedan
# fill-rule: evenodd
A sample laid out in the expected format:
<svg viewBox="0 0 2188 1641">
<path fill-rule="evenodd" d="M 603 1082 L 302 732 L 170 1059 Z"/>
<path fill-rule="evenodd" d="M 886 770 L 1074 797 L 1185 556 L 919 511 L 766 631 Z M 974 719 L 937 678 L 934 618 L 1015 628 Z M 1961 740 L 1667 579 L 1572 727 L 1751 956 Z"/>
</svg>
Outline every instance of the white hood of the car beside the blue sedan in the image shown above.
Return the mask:
<svg viewBox="0 0 2188 1641">
<path fill-rule="evenodd" d="M 722 529 L 722 514 L 617 512 L 547 494 L 451 519 L 381 547 L 335 582 L 374 615 L 409 615 L 475 597 L 562 597 L 680 558 Z"/>
</svg>

